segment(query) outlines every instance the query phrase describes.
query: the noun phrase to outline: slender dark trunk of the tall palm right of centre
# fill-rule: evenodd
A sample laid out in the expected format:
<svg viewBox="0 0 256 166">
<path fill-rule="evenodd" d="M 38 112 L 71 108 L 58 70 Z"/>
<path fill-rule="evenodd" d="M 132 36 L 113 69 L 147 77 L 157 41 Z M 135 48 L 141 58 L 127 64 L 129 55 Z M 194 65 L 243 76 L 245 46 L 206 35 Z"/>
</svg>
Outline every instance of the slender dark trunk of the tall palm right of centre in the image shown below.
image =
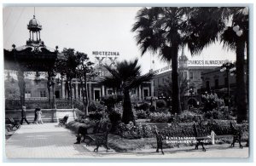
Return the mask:
<svg viewBox="0 0 256 166">
<path fill-rule="evenodd" d="M 181 113 L 181 103 L 179 94 L 178 72 L 177 72 L 177 46 L 172 46 L 172 112 Z"/>
</svg>

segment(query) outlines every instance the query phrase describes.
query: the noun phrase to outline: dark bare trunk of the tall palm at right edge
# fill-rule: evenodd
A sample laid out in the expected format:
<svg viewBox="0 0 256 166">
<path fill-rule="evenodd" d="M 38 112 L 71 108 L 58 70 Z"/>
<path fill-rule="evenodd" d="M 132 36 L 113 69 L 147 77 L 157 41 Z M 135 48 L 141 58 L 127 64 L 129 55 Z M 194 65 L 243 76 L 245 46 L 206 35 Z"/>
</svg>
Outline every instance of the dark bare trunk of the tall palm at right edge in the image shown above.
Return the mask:
<svg viewBox="0 0 256 166">
<path fill-rule="evenodd" d="M 236 105 L 237 105 L 237 123 L 247 120 L 247 94 L 245 83 L 245 60 L 244 60 L 245 42 L 236 41 Z"/>
</svg>

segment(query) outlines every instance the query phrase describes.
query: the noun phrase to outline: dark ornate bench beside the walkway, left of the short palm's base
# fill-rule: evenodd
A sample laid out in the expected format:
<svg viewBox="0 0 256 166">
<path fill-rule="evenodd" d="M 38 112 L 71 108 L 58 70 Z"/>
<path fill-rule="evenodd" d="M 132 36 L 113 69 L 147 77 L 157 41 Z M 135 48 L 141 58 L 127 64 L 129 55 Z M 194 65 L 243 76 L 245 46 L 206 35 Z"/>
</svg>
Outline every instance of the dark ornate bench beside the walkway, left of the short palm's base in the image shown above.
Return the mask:
<svg viewBox="0 0 256 166">
<path fill-rule="evenodd" d="M 94 152 L 98 152 L 98 148 L 100 146 L 104 146 L 108 152 L 108 150 L 110 149 L 108 147 L 108 134 L 111 126 L 111 123 L 108 123 L 106 121 L 99 121 L 98 123 L 96 123 L 95 127 L 91 130 L 89 129 L 88 134 L 84 135 L 84 139 L 87 138 L 90 141 L 89 143 L 86 143 L 86 145 L 90 146 L 91 141 L 94 141 L 96 143 L 96 148 L 94 149 Z"/>
</svg>

